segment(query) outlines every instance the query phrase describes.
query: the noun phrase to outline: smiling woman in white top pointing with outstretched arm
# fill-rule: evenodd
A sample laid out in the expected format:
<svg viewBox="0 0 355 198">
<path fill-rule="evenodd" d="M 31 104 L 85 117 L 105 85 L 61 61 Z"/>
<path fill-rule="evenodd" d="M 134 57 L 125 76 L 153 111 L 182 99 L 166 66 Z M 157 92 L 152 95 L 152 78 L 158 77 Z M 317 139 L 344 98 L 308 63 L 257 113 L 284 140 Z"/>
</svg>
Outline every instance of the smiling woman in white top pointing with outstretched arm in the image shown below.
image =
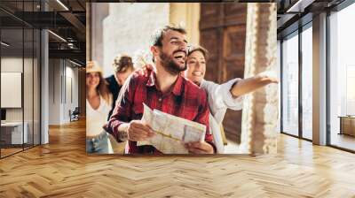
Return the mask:
<svg viewBox="0 0 355 198">
<path fill-rule="evenodd" d="M 193 46 L 187 55 L 185 77 L 205 89 L 209 98 L 209 126 L 217 147 L 217 153 L 224 153 L 220 125 L 227 109 L 241 110 L 242 95 L 251 93 L 278 80 L 267 73 L 259 73 L 248 79 L 233 79 L 223 84 L 204 80 L 208 51 L 201 46 Z"/>
</svg>

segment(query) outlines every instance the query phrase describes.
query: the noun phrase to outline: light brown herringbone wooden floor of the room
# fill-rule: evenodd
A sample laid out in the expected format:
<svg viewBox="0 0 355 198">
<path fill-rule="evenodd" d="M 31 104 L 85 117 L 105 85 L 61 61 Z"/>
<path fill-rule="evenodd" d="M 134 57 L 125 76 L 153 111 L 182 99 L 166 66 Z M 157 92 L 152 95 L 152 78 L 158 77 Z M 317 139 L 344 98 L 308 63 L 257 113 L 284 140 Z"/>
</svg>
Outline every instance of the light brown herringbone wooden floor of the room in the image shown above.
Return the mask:
<svg viewBox="0 0 355 198">
<path fill-rule="evenodd" d="M 84 122 L 0 160 L 0 197 L 355 197 L 355 155 L 280 135 L 276 156 L 87 156 Z"/>
</svg>

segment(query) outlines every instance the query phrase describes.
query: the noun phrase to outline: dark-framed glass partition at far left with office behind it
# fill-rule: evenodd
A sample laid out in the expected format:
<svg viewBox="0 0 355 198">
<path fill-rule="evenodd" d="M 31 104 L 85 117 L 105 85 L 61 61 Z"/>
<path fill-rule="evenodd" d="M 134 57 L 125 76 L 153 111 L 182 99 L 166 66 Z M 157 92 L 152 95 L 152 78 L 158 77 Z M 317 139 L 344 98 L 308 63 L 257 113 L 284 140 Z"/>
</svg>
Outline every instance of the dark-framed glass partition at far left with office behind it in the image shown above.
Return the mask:
<svg viewBox="0 0 355 198">
<path fill-rule="evenodd" d="M 12 4 L 1 2 L 0 6 Z M 38 1 L 18 1 L 14 12 L 36 11 Z M 0 11 L 0 157 L 40 143 L 40 30 Z M 19 90 L 19 91 L 17 91 Z M 9 95 L 15 95 L 13 97 Z"/>
</svg>

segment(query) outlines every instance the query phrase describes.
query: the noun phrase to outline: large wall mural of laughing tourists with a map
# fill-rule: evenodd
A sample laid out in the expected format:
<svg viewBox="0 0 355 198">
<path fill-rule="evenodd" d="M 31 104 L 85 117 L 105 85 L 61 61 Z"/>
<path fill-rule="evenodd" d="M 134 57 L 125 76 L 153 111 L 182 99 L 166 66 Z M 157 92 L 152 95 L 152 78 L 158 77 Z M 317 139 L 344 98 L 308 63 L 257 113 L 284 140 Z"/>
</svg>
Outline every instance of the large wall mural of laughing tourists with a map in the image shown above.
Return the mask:
<svg viewBox="0 0 355 198">
<path fill-rule="evenodd" d="M 276 4 L 89 7 L 87 153 L 276 152 Z"/>
</svg>

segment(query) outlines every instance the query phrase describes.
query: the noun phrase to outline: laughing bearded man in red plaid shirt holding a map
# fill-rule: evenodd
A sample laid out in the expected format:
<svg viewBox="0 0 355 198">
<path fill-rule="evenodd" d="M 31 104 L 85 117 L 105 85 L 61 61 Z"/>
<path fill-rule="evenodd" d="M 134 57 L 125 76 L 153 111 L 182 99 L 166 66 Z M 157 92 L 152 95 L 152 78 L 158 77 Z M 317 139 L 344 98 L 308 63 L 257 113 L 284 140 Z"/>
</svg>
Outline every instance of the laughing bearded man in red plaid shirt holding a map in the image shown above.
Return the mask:
<svg viewBox="0 0 355 198">
<path fill-rule="evenodd" d="M 114 113 L 105 129 L 116 141 L 127 141 L 126 153 L 160 154 L 151 145 L 137 146 L 155 135 L 142 120 L 143 103 L 153 109 L 186 118 L 206 126 L 205 140 L 190 142 L 185 147 L 194 154 L 213 154 L 216 147 L 209 133 L 209 104 L 206 92 L 181 76 L 186 69 L 187 42 L 185 29 L 163 27 L 153 36 L 150 48 L 154 70 L 146 75 L 134 72 L 125 82 Z"/>
</svg>

